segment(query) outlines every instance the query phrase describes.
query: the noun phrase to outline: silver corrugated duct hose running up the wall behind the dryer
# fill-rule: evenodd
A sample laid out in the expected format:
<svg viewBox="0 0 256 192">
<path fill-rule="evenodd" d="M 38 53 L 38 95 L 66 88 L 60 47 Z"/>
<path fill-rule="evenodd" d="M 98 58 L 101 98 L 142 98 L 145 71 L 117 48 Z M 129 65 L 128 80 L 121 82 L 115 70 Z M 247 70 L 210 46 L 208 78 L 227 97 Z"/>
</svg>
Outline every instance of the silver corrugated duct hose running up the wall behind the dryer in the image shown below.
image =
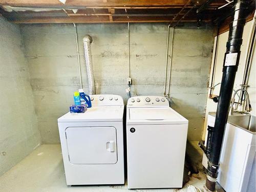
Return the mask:
<svg viewBox="0 0 256 192">
<path fill-rule="evenodd" d="M 93 65 L 92 65 L 92 54 L 91 54 L 91 42 L 93 41 L 90 35 L 86 35 L 83 37 L 83 49 L 84 49 L 84 57 L 86 58 L 86 70 L 87 70 L 87 78 L 89 84 L 89 94 L 95 94 L 95 84 L 93 77 Z"/>
</svg>

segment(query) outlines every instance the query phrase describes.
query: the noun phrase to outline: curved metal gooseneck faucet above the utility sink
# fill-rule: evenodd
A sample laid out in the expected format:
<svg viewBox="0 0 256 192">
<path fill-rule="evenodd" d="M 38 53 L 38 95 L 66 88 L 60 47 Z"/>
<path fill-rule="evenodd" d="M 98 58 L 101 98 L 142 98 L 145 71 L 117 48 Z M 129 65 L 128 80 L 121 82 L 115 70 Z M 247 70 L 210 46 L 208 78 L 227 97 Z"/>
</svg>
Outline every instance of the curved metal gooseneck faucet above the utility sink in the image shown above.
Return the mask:
<svg viewBox="0 0 256 192">
<path fill-rule="evenodd" d="M 236 96 L 237 92 L 239 92 L 239 91 L 242 91 L 242 92 L 244 92 L 244 93 L 246 94 L 245 110 L 244 110 L 244 107 L 243 107 L 241 111 L 238 111 L 238 105 L 239 105 L 239 104 L 240 104 L 240 105 L 243 104 L 243 94 L 240 94 L 240 97 L 241 97 L 241 95 L 242 95 L 242 98 L 239 97 L 238 102 L 236 102 L 236 103 L 237 103 L 236 108 L 233 108 L 233 104 L 235 103 L 235 102 L 234 102 L 234 100 L 235 100 L 234 97 Z M 233 94 L 233 97 L 232 97 L 231 101 L 232 101 L 232 102 L 231 102 L 230 109 L 229 109 L 229 115 L 233 115 L 233 112 L 242 113 L 242 114 L 243 114 L 243 113 L 247 114 L 247 113 L 249 113 L 249 112 L 251 111 L 251 103 L 250 103 L 250 99 L 249 99 L 249 94 L 248 94 L 248 92 L 247 92 L 245 89 L 238 89 L 237 91 L 235 91 L 234 94 Z M 244 105 L 242 105 L 242 106 L 244 106 Z"/>
</svg>

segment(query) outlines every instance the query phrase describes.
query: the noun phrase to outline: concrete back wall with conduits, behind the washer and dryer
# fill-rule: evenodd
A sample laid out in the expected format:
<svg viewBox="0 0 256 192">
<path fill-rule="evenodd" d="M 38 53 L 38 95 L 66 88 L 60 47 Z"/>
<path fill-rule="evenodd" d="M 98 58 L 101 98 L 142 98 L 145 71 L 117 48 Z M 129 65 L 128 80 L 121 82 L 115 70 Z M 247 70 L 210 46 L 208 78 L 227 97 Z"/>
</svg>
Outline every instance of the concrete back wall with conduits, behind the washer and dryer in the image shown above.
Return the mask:
<svg viewBox="0 0 256 192">
<path fill-rule="evenodd" d="M 75 28 L 35 24 L 21 25 L 21 30 L 42 142 L 59 143 L 57 118 L 69 111 L 79 89 Z M 84 90 L 82 38 L 89 34 L 96 94 L 118 94 L 126 102 L 127 24 L 78 24 L 77 30 Z M 166 31 L 166 24 L 130 24 L 132 96 L 163 95 Z M 175 29 L 170 96 L 172 107 L 189 120 L 189 140 L 202 135 L 213 43 L 208 25 Z"/>
</svg>

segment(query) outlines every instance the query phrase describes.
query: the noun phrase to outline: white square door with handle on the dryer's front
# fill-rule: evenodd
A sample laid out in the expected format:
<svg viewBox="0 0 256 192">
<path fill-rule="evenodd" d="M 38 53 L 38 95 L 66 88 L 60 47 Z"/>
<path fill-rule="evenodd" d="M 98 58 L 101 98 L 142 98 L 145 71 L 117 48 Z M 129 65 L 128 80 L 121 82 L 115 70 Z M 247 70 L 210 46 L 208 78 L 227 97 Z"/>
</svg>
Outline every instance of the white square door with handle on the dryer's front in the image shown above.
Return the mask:
<svg viewBox="0 0 256 192">
<path fill-rule="evenodd" d="M 72 164 L 115 164 L 116 129 L 106 127 L 68 127 L 66 138 Z"/>
</svg>

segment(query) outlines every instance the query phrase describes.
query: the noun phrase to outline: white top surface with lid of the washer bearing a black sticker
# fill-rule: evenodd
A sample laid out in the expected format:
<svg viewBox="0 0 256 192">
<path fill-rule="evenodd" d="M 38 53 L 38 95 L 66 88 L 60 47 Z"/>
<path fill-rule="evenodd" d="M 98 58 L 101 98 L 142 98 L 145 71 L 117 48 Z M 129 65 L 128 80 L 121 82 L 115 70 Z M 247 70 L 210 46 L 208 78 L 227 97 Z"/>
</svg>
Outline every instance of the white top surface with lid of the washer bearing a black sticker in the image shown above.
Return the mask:
<svg viewBox="0 0 256 192">
<path fill-rule="evenodd" d="M 127 124 L 187 124 L 188 120 L 169 107 L 129 108 Z"/>
</svg>

